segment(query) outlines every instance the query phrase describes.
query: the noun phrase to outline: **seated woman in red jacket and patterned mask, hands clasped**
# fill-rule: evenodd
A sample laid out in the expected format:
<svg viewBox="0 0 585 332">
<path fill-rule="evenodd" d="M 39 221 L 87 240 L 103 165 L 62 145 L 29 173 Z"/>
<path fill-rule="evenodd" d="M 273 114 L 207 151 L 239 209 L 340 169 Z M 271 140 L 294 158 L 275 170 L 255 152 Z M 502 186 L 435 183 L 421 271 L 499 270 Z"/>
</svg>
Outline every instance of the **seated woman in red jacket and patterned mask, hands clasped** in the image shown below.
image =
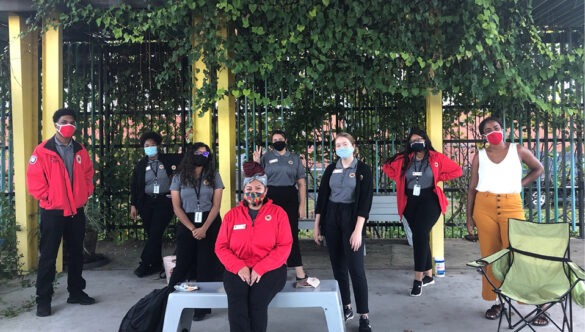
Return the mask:
<svg viewBox="0 0 585 332">
<path fill-rule="evenodd" d="M 225 266 L 231 332 L 266 331 L 268 304 L 286 282 L 292 233 L 286 212 L 266 198 L 260 164 L 244 164 L 244 196 L 226 213 L 215 243 Z"/>
</svg>

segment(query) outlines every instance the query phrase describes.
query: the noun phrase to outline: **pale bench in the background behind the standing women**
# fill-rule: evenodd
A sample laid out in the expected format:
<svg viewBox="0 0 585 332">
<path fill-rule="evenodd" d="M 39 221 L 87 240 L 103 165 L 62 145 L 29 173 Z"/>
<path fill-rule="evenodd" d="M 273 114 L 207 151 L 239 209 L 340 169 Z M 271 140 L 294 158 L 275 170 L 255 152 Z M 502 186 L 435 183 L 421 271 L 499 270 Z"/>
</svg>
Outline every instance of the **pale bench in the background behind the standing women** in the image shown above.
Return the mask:
<svg viewBox="0 0 585 332">
<path fill-rule="evenodd" d="M 400 216 L 398 215 L 398 204 L 396 202 L 396 194 L 391 195 L 374 195 L 372 199 L 372 208 L 370 210 L 370 218 L 368 219 L 368 226 L 372 227 L 374 233 L 379 237 L 379 228 L 385 227 L 388 224 L 400 224 Z M 299 229 L 312 230 L 315 225 L 315 219 L 300 219 Z M 404 231 L 408 243 L 412 245 L 412 232 L 404 220 Z"/>
</svg>

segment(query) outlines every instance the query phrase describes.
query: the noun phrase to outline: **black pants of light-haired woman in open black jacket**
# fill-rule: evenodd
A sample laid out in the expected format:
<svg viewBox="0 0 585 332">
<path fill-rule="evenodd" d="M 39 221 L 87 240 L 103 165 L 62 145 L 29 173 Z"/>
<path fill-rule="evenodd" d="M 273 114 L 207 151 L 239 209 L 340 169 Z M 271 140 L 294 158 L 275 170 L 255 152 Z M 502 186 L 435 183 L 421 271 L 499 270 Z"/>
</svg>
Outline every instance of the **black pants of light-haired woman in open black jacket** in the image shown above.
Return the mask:
<svg viewBox="0 0 585 332">
<path fill-rule="evenodd" d="M 356 224 L 356 220 L 352 220 L 353 208 L 353 204 L 331 201 L 327 203 L 325 239 L 327 240 L 327 249 L 329 249 L 333 276 L 339 284 L 341 302 L 344 306 L 351 304 L 349 291 L 349 276 L 351 276 L 357 312 L 366 314 L 369 312 L 369 308 L 368 280 L 364 269 L 365 239 L 362 238 L 362 245 L 358 251 L 353 251 L 349 244 L 349 238 Z"/>
</svg>

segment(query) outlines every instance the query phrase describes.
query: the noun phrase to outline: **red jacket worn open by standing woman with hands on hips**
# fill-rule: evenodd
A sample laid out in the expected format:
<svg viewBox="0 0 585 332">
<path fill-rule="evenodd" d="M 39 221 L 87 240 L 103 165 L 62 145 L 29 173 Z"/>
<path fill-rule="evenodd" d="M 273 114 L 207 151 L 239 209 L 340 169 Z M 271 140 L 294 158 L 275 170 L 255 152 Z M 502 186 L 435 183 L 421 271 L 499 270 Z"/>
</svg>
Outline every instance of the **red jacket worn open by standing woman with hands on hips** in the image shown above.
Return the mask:
<svg viewBox="0 0 585 332">
<path fill-rule="evenodd" d="M 411 153 L 409 158 L 412 158 L 414 154 Z M 398 215 L 402 218 L 404 209 L 406 208 L 406 178 L 402 174 L 402 160 L 404 155 L 398 156 L 391 163 L 385 163 L 382 166 L 382 170 L 386 175 L 396 182 L 396 203 L 398 205 Z M 447 197 L 438 183 L 441 181 L 448 181 L 458 178 L 463 174 L 461 167 L 444 154 L 437 151 L 429 151 L 429 166 L 433 172 L 433 182 L 435 187 L 433 191 L 439 198 L 439 205 L 441 206 L 441 212 L 445 214 L 447 211 Z"/>
</svg>

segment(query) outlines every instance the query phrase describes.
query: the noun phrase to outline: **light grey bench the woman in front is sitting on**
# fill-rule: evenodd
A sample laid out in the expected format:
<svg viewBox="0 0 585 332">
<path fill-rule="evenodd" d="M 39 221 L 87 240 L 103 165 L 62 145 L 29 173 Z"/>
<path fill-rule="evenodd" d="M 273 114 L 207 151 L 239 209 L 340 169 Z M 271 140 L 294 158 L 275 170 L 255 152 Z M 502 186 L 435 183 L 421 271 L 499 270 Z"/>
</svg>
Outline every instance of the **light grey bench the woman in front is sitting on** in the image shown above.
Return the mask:
<svg viewBox="0 0 585 332">
<path fill-rule="evenodd" d="M 294 288 L 287 282 L 270 308 L 322 308 L 329 332 L 345 331 L 339 286 L 335 280 L 321 280 L 317 288 Z M 195 308 L 227 308 L 227 295 L 221 282 L 197 283 L 194 292 L 173 292 L 169 295 L 163 332 L 190 331 Z"/>
</svg>

